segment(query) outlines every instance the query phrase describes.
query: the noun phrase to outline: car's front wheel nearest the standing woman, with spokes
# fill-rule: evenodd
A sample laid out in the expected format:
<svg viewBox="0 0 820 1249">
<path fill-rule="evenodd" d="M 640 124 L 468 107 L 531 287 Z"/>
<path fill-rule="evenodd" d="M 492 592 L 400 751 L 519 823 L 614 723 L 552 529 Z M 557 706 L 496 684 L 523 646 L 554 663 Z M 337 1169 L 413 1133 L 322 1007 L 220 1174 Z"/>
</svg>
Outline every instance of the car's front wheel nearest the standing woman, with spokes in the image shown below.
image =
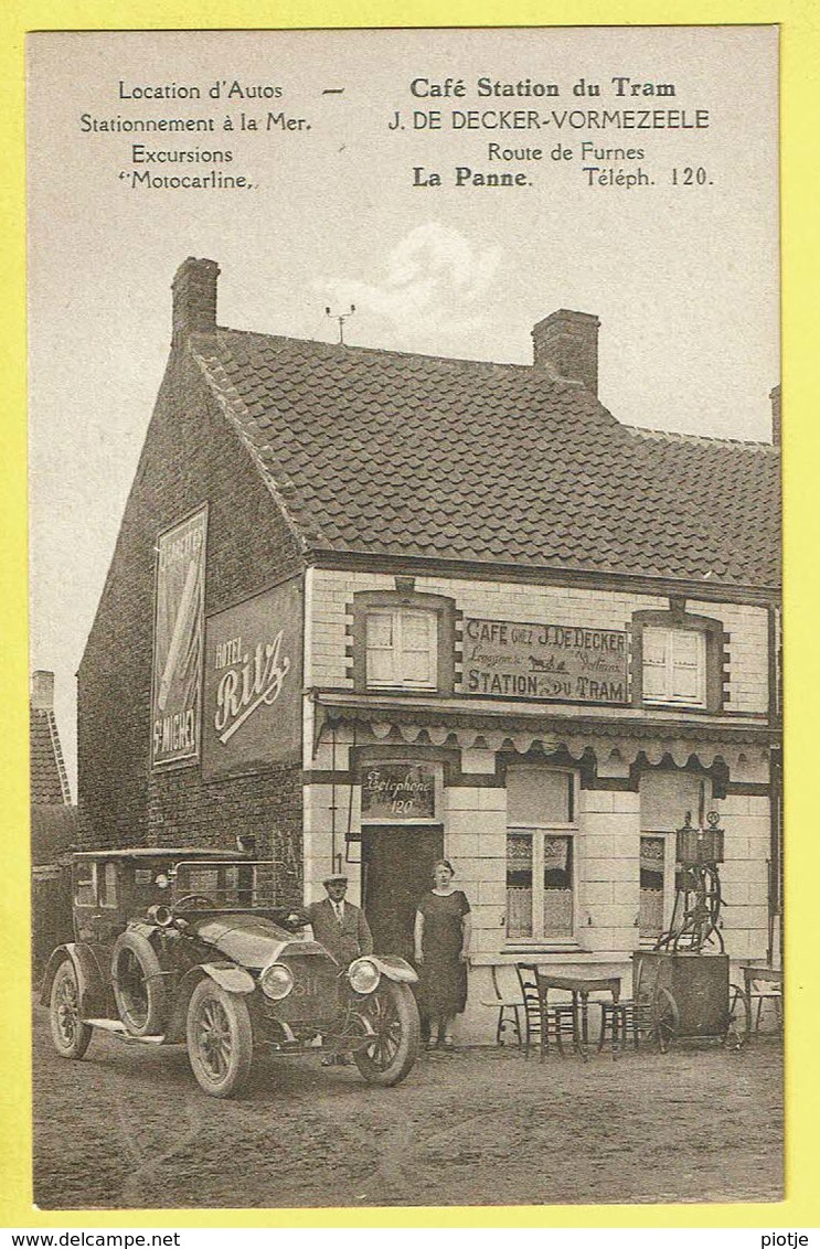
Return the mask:
<svg viewBox="0 0 820 1249">
<path fill-rule="evenodd" d="M 419 1008 L 408 984 L 382 979 L 359 1008 L 370 1044 L 355 1050 L 354 1062 L 368 1084 L 399 1084 L 419 1054 Z"/>
</svg>

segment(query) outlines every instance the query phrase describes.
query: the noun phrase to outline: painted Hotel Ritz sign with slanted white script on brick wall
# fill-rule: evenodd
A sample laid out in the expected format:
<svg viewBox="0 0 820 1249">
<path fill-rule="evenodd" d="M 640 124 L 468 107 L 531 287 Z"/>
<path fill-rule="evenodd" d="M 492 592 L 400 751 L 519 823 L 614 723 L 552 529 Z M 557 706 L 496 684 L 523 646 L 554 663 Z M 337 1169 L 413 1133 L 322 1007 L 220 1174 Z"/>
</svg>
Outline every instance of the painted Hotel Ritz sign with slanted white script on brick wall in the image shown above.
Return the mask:
<svg viewBox="0 0 820 1249">
<path fill-rule="evenodd" d="M 206 777 L 300 758 L 301 605 L 294 578 L 209 618 Z"/>
</svg>

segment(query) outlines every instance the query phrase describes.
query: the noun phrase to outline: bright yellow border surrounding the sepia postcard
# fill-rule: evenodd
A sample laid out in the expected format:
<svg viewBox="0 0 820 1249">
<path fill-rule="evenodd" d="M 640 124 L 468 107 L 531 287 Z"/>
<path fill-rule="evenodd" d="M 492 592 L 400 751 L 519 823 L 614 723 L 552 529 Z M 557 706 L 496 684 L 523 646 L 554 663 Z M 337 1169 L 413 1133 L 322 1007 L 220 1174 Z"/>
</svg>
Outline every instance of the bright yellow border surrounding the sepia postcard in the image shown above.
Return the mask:
<svg viewBox="0 0 820 1249">
<path fill-rule="evenodd" d="M 729 1227 L 820 1225 L 820 854 L 812 779 L 818 682 L 816 0 L 6 0 L 0 15 L 0 1227 Z M 29 1115 L 28 648 L 25 598 L 25 152 L 28 30 L 310 26 L 715 25 L 779 22 L 786 480 L 788 1197 L 778 1205 L 534 1207 L 341 1212 L 72 1212 L 31 1205 Z M 749 84 L 754 91 L 754 84 Z M 720 490 L 720 482 L 715 482 Z"/>
</svg>

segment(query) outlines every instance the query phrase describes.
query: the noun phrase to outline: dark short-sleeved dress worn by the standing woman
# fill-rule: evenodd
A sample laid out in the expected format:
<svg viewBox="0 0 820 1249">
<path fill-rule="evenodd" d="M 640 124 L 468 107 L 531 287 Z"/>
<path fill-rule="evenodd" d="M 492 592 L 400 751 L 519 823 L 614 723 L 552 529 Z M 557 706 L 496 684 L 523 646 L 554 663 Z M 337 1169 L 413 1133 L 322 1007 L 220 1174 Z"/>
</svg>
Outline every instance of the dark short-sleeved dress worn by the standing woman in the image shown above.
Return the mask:
<svg viewBox="0 0 820 1249">
<path fill-rule="evenodd" d="M 425 893 L 419 903 L 424 916 L 419 968 L 419 1004 L 434 1018 L 461 1014 L 468 1000 L 468 968 L 460 959 L 464 944 L 461 921 L 470 903 L 460 889 Z"/>
</svg>

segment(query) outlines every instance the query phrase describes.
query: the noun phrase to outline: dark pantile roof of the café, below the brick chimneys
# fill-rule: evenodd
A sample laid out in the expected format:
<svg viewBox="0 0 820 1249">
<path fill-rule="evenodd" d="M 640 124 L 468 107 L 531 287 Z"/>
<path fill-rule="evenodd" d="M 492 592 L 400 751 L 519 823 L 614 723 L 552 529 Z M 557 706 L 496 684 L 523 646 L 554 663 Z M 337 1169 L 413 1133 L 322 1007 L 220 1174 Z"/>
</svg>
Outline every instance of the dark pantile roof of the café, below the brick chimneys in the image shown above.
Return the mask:
<svg viewBox="0 0 820 1249">
<path fill-rule="evenodd" d="M 306 547 L 779 583 L 768 445 L 629 428 L 522 365 L 190 343 Z"/>
</svg>

